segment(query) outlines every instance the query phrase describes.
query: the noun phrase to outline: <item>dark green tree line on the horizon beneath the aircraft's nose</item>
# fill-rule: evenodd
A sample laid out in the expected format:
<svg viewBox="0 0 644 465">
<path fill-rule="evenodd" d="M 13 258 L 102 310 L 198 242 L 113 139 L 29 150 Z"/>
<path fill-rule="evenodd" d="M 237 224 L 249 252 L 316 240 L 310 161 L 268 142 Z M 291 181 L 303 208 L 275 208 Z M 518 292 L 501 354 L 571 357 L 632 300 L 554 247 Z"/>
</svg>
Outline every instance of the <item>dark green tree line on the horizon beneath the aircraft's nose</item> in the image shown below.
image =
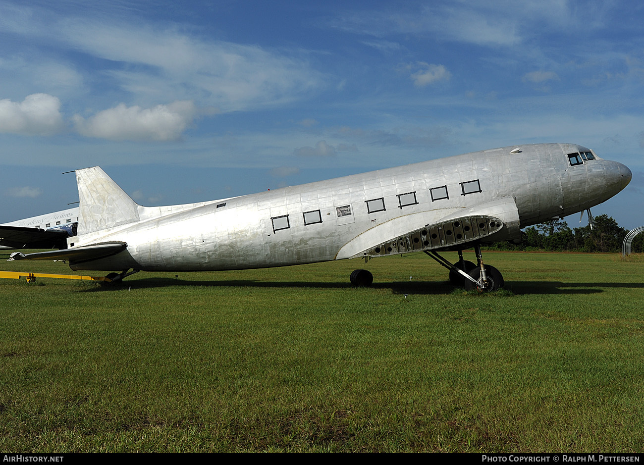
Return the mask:
<svg viewBox="0 0 644 465">
<path fill-rule="evenodd" d="M 605 214 L 594 217 L 590 225 L 570 229 L 563 220 L 551 220 L 526 228 L 519 244 L 497 242 L 488 249 L 501 251 L 621 252 L 629 231 Z M 644 252 L 644 232 L 635 236 L 632 253 Z"/>
</svg>

